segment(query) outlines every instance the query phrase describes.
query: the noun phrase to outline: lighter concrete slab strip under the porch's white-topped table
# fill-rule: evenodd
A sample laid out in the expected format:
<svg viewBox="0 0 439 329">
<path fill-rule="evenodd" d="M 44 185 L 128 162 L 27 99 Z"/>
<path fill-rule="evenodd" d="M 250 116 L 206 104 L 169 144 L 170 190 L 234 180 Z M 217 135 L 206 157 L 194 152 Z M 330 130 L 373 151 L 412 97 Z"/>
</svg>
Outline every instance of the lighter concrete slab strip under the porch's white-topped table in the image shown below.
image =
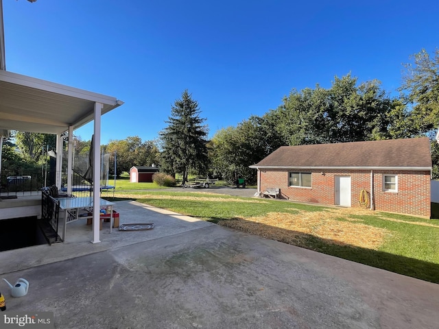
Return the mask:
<svg viewBox="0 0 439 329">
<path fill-rule="evenodd" d="M 154 223 L 155 228 L 127 232 L 113 228 L 110 234 L 110 223 L 104 222 L 100 231 L 101 242 L 93 244 L 91 243 L 92 226 L 86 225 L 86 219 L 79 219 L 67 224 L 64 243 L 51 246 L 36 245 L 0 252 L 0 274 L 76 258 L 86 254 L 94 254 L 104 250 L 117 249 L 118 247 L 214 225 L 175 212 L 140 204 L 139 202 L 122 201 L 115 202 L 115 204 L 114 209 L 120 214 L 120 223 Z M 62 227 L 60 227 L 60 230 L 62 230 Z M 6 261 L 3 262 L 3 260 Z"/>
</svg>

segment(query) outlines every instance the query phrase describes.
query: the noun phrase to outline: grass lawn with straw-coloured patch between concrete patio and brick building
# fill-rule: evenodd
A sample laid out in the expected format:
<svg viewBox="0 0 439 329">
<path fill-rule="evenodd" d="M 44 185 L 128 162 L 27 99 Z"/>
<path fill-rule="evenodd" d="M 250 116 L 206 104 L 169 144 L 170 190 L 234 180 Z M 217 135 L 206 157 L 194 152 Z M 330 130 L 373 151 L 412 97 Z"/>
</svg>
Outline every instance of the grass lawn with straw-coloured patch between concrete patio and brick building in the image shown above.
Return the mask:
<svg viewBox="0 0 439 329">
<path fill-rule="evenodd" d="M 116 191 L 115 196 L 439 283 L 437 219 L 208 192 Z"/>
</svg>

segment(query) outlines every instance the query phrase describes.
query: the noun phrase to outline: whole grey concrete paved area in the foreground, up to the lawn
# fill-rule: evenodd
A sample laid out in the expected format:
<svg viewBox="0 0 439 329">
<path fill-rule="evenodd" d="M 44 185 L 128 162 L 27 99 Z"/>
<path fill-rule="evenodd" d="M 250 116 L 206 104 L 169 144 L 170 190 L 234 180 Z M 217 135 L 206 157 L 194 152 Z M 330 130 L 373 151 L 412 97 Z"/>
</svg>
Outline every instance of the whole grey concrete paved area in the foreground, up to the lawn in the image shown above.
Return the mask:
<svg viewBox="0 0 439 329">
<path fill-rule="evenodd" d="M 1 277 L 30 282 L 19 298 L 0 282 L 8 310 L 54 312 L 56 328 L 438 328 L 438 284 L 137 202 L 116 208 L 122 223 L 156 227 L 104 223 L 93 245 L 77 222 L 71 242 L 1 252 Z"/>
</svg>

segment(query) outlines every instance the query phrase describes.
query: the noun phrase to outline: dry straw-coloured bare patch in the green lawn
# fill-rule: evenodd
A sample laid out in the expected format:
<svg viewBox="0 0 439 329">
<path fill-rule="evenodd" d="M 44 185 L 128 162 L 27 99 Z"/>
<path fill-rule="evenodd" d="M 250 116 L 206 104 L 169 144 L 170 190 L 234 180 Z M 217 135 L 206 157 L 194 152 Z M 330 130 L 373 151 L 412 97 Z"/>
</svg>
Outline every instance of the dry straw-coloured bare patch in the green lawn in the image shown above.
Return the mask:
<svg viewBox="0 0 439 329">
<path fill-rule="evenodd" d="M 296 214 L 269 212 L 258 217 L 220 221 L 219 224 L 292 245 L 309 247 L 309 236 L 315 236 L 335 245 L 378 249 L 392 235 L 389 230 L 357 223 L 357 219 L 338 220 L 346 219 L 349 213 L 360 215 L 362 212 L 370 215 L 369 210 L 358 208 L 355 212 L 351 209 L 299 211 Z"/>
</svg>

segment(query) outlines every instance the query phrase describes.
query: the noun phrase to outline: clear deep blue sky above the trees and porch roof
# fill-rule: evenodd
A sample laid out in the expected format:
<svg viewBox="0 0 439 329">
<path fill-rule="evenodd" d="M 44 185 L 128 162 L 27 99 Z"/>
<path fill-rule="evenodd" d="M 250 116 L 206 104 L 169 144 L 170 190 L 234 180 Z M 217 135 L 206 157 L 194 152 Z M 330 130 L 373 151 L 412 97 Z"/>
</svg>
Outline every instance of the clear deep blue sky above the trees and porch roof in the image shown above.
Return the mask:
<svg viewBox="0 0 439 329">
<path fill-rule="evenodd" d="M 157 138 L 185 89 L 210 136 L 335 75 L 396 93 L 402 63 L 439 47 L 438 16 L 437 0 L 3 0 L 8 71 L 125 102 L 102 144 Z"/>
</svg>

